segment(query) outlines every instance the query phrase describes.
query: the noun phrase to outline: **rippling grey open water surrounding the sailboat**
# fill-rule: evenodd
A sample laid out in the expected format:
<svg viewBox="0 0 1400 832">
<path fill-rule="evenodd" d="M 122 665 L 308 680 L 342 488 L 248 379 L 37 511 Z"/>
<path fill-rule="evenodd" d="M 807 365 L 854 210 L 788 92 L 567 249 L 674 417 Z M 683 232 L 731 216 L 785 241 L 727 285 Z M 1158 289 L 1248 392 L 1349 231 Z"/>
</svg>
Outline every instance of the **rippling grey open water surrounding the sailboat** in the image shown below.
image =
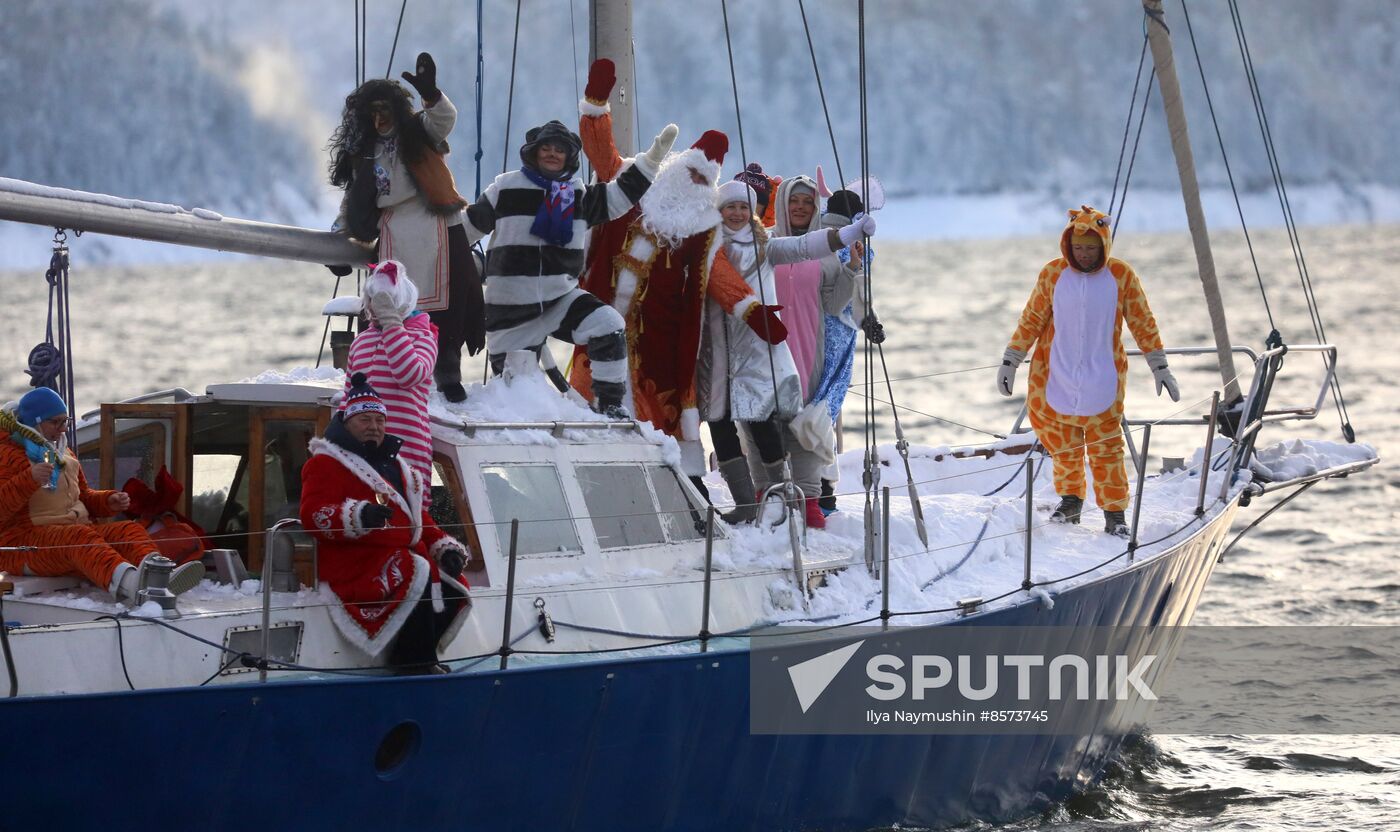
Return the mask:
<svg viewBox="0 0 1400 832">
<path fill-rule="evenodd" d="M 1327 335 L 1341 347 L 1341 378 L 1361 441 L 1400 447 L 1393 384 L 1400 353 L 1400 228 L 1305 228 Z M 1270 331 L 1243 238 L 1217 233 L 1215 258 L 1235 343 L 1259 347 Z M 335 279 L 295 263 L 224 262 L 196 266 L 98 268 L 74 244 L 73 307 L 80 409 L 158 388 L 200 391 L 260 370 L 315 361 L 321 305 Z M 960 444 L 976 429 L 1007 430 L 1019 401 L 994 392 L 994 370 L 1035 276 L 1054 254 L 1049 238 L 881 244 L 875 301 L 889 333 L 885 357 L 911 441 Z M 1257 233 L 1254 248 L 1274 318 L 1285 340 L 1312 329 L 1281 231 Z M 1135 235 L 1116 255 L 1142 276 L 1169 346 L 1210 343 L 1210 325 L 1184 235 Z M 0 395 L 24 391 L 22 363 L 43 338 L 42 272 L 0 273 L 6 287 L 0 356 L 14 367 Z M 560 353 L 563 357 L 563 353 Z M 977 368 L 976 371 L 963 371 Z M 1133 416 L 1166 416 L 1208 399 L 1219 375 L 1205 359 L 1173 359 L 1182 403 L 1156 399 L 1141 359 L 1130 368 Z M 1238 371 L 1247 384 L 1249 361 Z M 1316 394 L 1320 363 L 1295 354 L 1274 402 Z M 472 360 L 468 375 L 480 373 Z M 857 367 L 857 380 L 862 368 Z M 1023 389 L 1025 373 L 1018 378 Z M 881 382 L 876 396 L 888 398 Z M 881 441 L 892 440 L 879 406 Z M 860 440 L 861 399 L 847 402 L 847 441 Z M 952 420 L 959 424 L 952 424 Z M 1266 434 L 1337 438 L 1330 402 L 1315 423 Z M 1204 441 L 1200 429 L 1159 431 L 1154 461 Z M 850 445 L 848 445 L 850 447 Z M 843 483 L 841 490 L 858 487 Z M 1207 625 L 1400 623 L 1400 576 L 1393 566 L 1400 527 L 1400 476 L 1380 466 L 1319 485 L 1246 536 L 1221 564 L 1196 620 Z M 1249 522 L 1273 504 L 1240 511 Z M 1400 738 L 1386 735 L 1154 737 L 1130 748 L 1105 782 L 1015 831 L 1119 829 L 1396 829 L 1400 828 Z"/>
</svg>

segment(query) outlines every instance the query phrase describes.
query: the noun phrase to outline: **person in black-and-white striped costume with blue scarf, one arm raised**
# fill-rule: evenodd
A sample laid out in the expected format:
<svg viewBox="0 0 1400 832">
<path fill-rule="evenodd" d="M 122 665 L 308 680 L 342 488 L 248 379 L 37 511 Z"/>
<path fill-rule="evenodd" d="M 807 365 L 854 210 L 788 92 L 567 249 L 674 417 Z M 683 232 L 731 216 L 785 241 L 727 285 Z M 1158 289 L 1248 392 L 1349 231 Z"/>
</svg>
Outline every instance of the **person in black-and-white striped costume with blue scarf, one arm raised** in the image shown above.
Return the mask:
<svg viewBox="0 0 1400 832">
<path fill-rule="evenodd" d="M 627 213 L 651 186 L 676 140 L 666 125 L 647 153 L 613 182 L 584 186 L 577 134 L 552 120 L 525 133 L 521 168 L 486 186 L 466 209 L 473 240 L 486 234 L 486 346 L 491 370 L 505 353 L 539 354 L 546 338 L 585 345 L 594 366 L 594 409 L 626 419 L 627 342 L 622 315 L 578 287 L 585 231 Z"/>
</svg>

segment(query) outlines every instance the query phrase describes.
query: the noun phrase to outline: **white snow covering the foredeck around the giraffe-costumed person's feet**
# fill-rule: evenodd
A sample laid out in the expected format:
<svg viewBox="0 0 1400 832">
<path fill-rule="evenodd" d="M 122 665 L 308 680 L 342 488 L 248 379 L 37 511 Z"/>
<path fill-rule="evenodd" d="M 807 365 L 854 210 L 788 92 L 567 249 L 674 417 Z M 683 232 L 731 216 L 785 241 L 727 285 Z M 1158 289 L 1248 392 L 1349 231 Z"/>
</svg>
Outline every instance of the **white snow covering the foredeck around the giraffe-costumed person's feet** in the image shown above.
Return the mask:
<svg viewBox="0 0 1400 832">
<path fill-rule="evenodd" d="M 1005 443 L 1002 443 L 1005 444 Z M 1218 438 L 1212 458 L 1224 465 L 1229 440 Z M 1315 473 L 1326 468 L 1375 459 L 1371 445 L 1344 445 L 1322 440 L 1292 440 L 1259 451 L 1274 469 L 1289 476 Z M 825 531 L 808 531 L 808 550 L 812 556 L 850 553 L 853 569 L 829 576 L 826 585 L 816 591 L 809 609 L 780 608 L 769 604 L 766 615 L 776 622 L 823 623 L 858 620 L 876 615 L 881 609 L 881 584 L 864 567 L 864 493 L 861 487 L 862 450 L 853 450 L 839 459 L 841 479 L 837 485 L 840 510 L 827 518 Z M 1019 591 L 1025 570 L 1025 468 L 1023 455 L 993 455 L 991 458 L 955 458 L 948 448 L 910 447 L 910 466 L 920 493 L 924 522 L 928 531 L 925 548 L 917 535 L 909 501 L 903 464 L 893 445 L 881 445 L 881 483 L 890 486 L 890 609 L 921 611 L 949 609 L 962 598 L 993 598 L 1014 591 L 990 608 L 1021 602 Z M 1205 500 L 1205 517 L 1196 517 L 1200 490 L 1197 471 L 1203 451 L 1197 450 L 1186 468 L 1149 476 L 1144 489 L 1141 545 L 1137 560 L 1152 557 L 1180 543 L 1214 520 L 1226 503 L 1219 500 L 1222 472 L 1212 471 Z M 1032 590 L 1046 605 L 1065 588 L 1089 583 L 1130 566 L 1127 557 L 1117 557 L 1127 549 L 1127 541 L 1103 532 L 1103 514 L 1089 496 L 1079 525 L 1050 522 L 1050 511 L 1058 503 L 1051 482 L 1049 459 L 1035 457 L 1035 513 L 1032 521 L 1033 581 L 1056 581 L 1065 576 L 1088 573 Z M 1250 482 L 1249 473 L 1236 476 L 1232 496 Z M 732 501 L 717 475 L 707 478 L 710 493 L 717 503 Z M 899 487 L 896 487 L 899 486 Z M 1134 483 L 1135 487 L 1135 483 Z M 850 493 L 857 492 L 857 493 Z M 1131 504 L 1128 507 L 1131 522 Z M 878 522 L 878 517 L 876 517 Z M 785 570 L 791 566 L 791 549 L 784 531 L 767 532 L 753 527 L 732 531 L 729 552 L 715 556 L 715 569 L 722 571 L 750 571 L 756 569 Z M 1110 562 L 1112 560 L 1112 562 Z M 1106 563 L 1110 562 L 1110 563 Z M 783 598 L 785 577 L 774 580 L 771 595 Z M 787 592 L 791 597 L 791 592 Z M 951 618 L 953 613 L 913 615 L 895 619 L 900 625 L 923 625 Z"/>
</svg>

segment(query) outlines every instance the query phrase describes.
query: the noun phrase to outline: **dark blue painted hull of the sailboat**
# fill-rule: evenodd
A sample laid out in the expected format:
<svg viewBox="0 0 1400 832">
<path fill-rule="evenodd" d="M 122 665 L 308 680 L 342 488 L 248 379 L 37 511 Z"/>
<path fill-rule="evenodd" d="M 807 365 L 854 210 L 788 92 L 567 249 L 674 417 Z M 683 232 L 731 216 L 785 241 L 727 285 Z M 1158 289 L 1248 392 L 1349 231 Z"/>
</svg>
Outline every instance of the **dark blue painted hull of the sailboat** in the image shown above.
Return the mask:
<svg viewBox="0 0 1400 832">
<path fill-rule="evenodd" d="M 1233 510 L 995 626 L 1186 623 Z M 6 702 L 0 828 L 869 829 L 1023 817 L 1103 770 L 1089 737 L 753 735 L 749 654 Z M 377 749 L 396 726 L 403 761 Z M 385 770 L 381 770 L 385 769 Z M 147 810 L 134 807 L 148 807 Z"/>
</svg>

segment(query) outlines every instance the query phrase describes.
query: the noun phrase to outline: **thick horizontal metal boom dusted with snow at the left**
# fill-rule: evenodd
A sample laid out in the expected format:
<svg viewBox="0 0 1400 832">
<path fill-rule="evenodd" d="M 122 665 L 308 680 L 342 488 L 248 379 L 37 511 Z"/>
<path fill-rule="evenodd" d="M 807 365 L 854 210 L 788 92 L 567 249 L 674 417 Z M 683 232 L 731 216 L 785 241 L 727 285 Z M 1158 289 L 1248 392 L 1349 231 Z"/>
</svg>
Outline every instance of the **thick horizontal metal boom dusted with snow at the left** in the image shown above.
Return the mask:
<svg viewBox="0 0 1400 832">
<path fill-rule="evenodd" d="M 360 265 L 374 254 L 372 248 L 329 231 L 237 220 L 200 209 L 185 210 L 20 179 L 0 179 L 0 220 L 308 263 Z"/>
</svg>

